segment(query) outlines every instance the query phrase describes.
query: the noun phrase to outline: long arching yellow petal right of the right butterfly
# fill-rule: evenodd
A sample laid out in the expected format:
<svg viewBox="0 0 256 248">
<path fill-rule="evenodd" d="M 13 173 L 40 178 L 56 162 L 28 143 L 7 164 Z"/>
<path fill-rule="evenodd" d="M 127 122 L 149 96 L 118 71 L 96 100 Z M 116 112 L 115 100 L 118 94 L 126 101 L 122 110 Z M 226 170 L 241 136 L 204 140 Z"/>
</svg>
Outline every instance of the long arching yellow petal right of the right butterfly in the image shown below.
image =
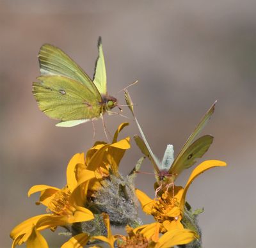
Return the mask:
<svg viewBox="0 0 256 248">
<path fill-rule="evenodd" d="M 207 169 L 211 169 L 212 167 L 218 167 L 218 166 L 227 166 L 227 164 L 220 160 L 206 160 L 206 161 L 202 162 L 201 164 L 199 164 L 198 166 L 196 166 L 196 168 L 192 171 L 191 175 L 189 176 L 189 180 L 186 184 L 186 187 L 184 188 L 184 192 L 182 194 L 182 198 L 180 201 L 180 209 L 181 210 L 184 209 L 184 204 L 186 201 L 186 194 L 187 194 L 188 188 L 191 185 L 191 183 L 193 182 L 193 180 L 195 180 L 195 178 L 197 176 L 199 176 L 201 173 L 203 173 L 204 171 L 207 171 Z"/>
</svg>

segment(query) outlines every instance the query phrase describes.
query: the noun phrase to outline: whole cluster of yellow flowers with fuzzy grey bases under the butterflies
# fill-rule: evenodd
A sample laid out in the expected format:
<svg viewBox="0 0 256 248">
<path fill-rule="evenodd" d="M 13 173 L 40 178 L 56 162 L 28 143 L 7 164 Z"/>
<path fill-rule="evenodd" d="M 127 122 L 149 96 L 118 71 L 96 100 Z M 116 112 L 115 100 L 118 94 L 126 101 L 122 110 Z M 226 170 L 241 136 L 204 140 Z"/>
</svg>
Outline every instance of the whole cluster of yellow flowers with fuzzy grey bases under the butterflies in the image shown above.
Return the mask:
<svg viewBox="0 0 256 248">
<path fill-rule="evenodd" d="M 49 185 L 35 185 L 28 196 L 40 192 L 36 205 L 45 205 L 46 212 L 31 217 L 13 228 L 12 247 L 26 242 L 28 247 L 48 247 L 41 231 L 64 228 L 69 240 L 61 247 L 173 247 L 200 242 L 196 215 L 186 203 L 189 185 L 212 167 L 225 166 L 219 160 L 207 160 L 197 166 L 184 188 L 173 186 L 161 196 L 151 199 L 134 187 L 136 171 L 143 159 L 127 176 L 119 173 L 125 151 L 131 147 L 129 137 L 118 141 L 118 134 L 128 123 L 122 123 L 112 143 L 97 142 L 90 150 L 77 153 L 67 166 L 67 184 L 58 189 Z M 154 217 L 143 225 L 138 206 Z M 127 236 L 112 235 L 111 226 L 125 227 Z"/>
</svg>

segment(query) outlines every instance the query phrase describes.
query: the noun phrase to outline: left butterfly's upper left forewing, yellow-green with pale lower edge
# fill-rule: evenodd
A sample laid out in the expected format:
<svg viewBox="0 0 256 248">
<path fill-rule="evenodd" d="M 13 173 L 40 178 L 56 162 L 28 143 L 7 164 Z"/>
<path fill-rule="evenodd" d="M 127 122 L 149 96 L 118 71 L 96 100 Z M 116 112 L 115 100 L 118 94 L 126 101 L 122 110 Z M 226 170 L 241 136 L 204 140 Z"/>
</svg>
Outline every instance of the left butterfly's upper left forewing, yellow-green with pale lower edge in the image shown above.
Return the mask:
<svg viewBox="0 0 256 248">
<path fill-rule="evenodd" d="M 38 54 L 41 75 L 62 75 L 98 91 L 92 79 L 65 52 L 53 45 L 42 45 Z"/>
</svg>

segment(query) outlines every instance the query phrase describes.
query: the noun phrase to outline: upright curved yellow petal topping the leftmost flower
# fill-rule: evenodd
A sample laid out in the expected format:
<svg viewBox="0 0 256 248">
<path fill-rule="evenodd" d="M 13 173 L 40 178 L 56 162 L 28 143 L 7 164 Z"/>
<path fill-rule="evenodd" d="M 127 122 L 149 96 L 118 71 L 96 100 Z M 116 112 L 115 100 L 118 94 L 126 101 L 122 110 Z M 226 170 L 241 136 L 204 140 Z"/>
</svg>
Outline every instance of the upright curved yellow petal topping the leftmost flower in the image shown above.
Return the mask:
<svg viewBox="0 0 256 248">
<path fill-rule="evenodd" d="M 72 159 L 70 159 L 67 166 L 67 185 L 68 188 L 72 191 L 76 185 L 76 174 L 75 168 L 77 164 L 84 164 L 84 153 L 76 153 Z"/>
</svg>

